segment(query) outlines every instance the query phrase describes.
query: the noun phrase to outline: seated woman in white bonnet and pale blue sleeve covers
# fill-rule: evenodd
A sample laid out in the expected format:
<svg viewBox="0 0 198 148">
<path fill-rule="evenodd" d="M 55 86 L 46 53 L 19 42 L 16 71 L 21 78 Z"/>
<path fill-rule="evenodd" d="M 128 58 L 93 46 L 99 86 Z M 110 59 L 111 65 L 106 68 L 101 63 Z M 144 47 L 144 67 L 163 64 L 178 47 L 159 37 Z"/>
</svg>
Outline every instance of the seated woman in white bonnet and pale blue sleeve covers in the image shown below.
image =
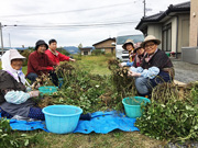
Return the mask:
<svg viewBox="0 0 198 148">
<path fill-rule="evenodd" d="M 22 64 L 25 57 L 16 49 L 6 52 L 1 58 L 0 70 L 0 111 L 1 116 L 36 118 L 44 121 L 42 109 L 34 107 L 32 96 L 38 96 L 38 91 L 26 92 L 25 76 L 22 72 Z"/>
</svg>

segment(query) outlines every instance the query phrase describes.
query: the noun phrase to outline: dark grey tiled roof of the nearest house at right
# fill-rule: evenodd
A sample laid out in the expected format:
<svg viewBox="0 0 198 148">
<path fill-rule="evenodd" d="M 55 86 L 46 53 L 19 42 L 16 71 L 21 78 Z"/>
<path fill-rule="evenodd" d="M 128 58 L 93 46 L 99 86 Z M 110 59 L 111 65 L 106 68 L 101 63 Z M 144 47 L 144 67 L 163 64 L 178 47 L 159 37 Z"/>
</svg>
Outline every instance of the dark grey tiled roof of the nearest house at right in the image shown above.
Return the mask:
<svg viewBox="0 0 198 148">
<path fill-rule="evenodd" d="M 135 30 L 140 30 L 141 25 L 146 22 L 160 22 L 162 19 L 167 16 L 172 12 L 189 12 L 190 11 L 190 1 L 183 2 L 178 4 L 170 4 L 166 11 L 161 11 L 160 13 L 156 13 L 154 15 L 150 16 L 143 16 L 139 24 L 136 25 Z"/>
</svg>

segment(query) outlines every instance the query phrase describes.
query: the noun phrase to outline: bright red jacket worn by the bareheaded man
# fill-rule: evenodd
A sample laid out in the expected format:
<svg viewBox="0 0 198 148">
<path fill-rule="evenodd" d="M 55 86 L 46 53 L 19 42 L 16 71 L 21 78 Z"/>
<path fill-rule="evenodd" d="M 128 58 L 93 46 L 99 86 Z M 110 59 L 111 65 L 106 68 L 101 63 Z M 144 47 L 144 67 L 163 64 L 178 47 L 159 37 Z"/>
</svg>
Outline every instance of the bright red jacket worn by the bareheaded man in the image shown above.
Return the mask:
<svg viewBox="0 0 198 148">
<path fill-rule="evenodd" d="M 45 50 L 45 54 L 48 56 L 48 58 L 50 58 L 52 61 L 56 62 L 57 65 L 59 64 L 59 61 L 64 61 L 64 60 L 68 60 L 68 61 L 69 61 L 69 57 L 61 54 L 61 53 L 57 52 L 57 50 L 56 50 L 56 53 L 57 53 L 57 56 L 54 55 L 50 49 Z"/>
</svg>

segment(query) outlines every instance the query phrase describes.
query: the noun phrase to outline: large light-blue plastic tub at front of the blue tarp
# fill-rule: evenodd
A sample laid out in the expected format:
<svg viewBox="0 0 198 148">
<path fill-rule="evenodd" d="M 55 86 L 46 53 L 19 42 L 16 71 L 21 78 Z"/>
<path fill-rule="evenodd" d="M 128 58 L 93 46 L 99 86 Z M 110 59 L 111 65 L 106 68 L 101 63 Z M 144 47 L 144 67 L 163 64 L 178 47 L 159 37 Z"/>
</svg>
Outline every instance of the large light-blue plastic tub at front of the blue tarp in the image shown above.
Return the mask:
<svg viewBox="0 0 198 148">
<path fill-rule="evenodd" d="M 73 133 L 78 125 L 82 110 L 73 105 L 51 105 L 42 110 L 45 115 L 46 128 L 51 133 Z"/>
</svg>

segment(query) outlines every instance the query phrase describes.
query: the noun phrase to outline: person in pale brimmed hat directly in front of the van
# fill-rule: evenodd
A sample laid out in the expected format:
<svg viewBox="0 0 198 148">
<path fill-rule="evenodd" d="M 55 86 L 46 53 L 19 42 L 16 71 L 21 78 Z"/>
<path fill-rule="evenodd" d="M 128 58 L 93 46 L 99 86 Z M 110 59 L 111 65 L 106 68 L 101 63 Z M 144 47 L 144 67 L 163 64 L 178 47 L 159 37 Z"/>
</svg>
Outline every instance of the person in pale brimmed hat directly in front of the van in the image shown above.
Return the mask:
<svg viewBox="0 0 198 148">
<path fill-rule="evenodd" d="M 127 39 L 125 43 L 122 45 L 122 48 L 124 50 L 129 52 L 129 61 L 128 62 L 121 62 L 121 67 L 123 66 L 128 66 L 131 67 L 133 66 L 133 61 L 134 61 L 134 57 L 135 57 L 135 53 L 134 53 L 134 43 L 132 39 Z"/>
</svg>

